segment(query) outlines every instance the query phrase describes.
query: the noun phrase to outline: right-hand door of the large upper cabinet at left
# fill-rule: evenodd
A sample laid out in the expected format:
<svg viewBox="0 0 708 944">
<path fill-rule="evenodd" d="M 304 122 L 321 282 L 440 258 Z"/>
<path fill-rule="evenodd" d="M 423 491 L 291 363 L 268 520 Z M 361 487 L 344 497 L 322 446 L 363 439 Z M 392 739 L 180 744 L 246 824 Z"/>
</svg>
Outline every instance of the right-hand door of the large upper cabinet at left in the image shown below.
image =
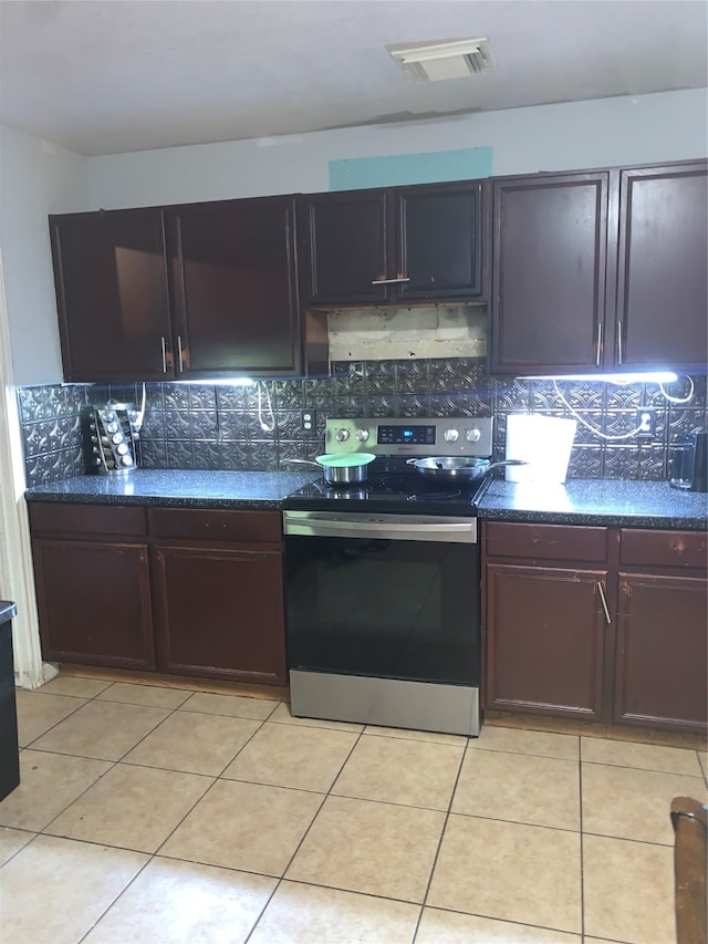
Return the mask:
<svg viewBox="0 0 708 944">
<path fill-rule="evenodd" d="M 294 200 L 165 210 L 177 377 L 300 369 Z"/>
</svg>

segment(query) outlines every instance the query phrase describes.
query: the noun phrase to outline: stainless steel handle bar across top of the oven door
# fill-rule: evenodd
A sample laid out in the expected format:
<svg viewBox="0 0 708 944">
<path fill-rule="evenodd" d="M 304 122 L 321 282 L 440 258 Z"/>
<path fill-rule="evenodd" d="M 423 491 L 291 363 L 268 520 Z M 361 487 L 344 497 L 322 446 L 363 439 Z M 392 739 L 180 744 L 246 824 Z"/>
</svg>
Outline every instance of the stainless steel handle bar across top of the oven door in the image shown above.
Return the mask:
<svg viewBox="0 0 708 944">
<path fill-rule="evenodd" d="M 285 522 L 285 535 L 326 538 L 406 538 L 412 541 L 477 541 L 477 520 L 421 522 L 409 521 L 327 521 L 304 519 Z"/>
</svg>

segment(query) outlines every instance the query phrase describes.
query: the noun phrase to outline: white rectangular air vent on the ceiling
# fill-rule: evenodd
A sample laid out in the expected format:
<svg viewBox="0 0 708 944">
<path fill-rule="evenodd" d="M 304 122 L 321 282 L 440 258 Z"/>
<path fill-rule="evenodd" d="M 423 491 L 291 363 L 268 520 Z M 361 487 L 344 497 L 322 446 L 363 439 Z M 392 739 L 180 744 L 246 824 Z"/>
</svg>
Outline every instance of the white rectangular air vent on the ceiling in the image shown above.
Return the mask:
<svg viewBox="0 0 708 944">
<path fill-rule="evenodd" d="M 386 49 L 413 79 L 439 82 L 486 72 L 494 63 L 486 37 L 476 40 L 387 45 Z"/>
</svg>

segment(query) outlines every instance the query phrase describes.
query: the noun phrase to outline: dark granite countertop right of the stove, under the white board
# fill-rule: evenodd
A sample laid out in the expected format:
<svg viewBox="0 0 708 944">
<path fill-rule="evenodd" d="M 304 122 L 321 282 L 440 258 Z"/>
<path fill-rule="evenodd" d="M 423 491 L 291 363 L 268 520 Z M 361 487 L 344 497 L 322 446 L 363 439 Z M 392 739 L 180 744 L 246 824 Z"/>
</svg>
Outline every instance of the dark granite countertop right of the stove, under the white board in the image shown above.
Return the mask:
<svg viewBox="0 0 708 944">
<path fill-rule="evenodd" d="M 705 530 L 707 516 L 706 492 L 626 479 L 568 479 L 565 485 L 494 479 L 479 509 L 479 517 L 489 521 L 689 531 Z"/>
</svg>

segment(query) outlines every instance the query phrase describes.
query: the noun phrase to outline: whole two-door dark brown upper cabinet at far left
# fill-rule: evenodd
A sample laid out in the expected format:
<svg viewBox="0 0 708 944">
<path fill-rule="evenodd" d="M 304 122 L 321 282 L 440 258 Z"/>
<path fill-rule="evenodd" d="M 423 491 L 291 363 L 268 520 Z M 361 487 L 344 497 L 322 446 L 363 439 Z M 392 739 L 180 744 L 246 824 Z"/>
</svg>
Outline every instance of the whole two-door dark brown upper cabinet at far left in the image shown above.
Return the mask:
<svg viewBox="0 0 708 944">
<path fill-rule="evenodd" d="M 294 198 L 50 217 L 66 381 L 301 373 Z"/>
</svg>

